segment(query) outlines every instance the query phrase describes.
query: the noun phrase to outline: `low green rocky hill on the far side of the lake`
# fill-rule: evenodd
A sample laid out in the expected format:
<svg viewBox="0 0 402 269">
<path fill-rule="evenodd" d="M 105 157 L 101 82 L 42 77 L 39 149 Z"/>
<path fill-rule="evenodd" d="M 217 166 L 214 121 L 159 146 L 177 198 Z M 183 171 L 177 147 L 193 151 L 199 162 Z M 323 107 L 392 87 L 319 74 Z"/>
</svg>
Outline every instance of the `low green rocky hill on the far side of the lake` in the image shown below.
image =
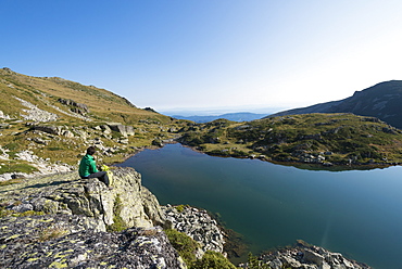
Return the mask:
<svg viewBox="0 0 402 269">
<path fill-rule="evenodd" d="M 339 165 L 402 163 L 402 131 L 374 117 L 303 114 L 189 126 L 180 141 L 219 156 Z"/>
</svg>

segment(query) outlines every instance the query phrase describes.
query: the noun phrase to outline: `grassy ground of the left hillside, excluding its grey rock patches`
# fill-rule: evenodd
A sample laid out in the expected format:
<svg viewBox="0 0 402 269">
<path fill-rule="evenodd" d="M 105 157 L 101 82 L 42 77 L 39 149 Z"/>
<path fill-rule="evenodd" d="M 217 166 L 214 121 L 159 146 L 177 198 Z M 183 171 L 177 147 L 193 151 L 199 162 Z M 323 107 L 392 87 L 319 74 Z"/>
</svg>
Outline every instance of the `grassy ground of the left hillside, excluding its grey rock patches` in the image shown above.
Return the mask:
<svg viewBox="0 0 402 269">
<path fill-rule="evenodd" d="M 21 117 L 23 110 L 27 107 L 14 97 L 35 104 L 40 110 L 59 115 L 56 121 L 41 124 L 52 126 L 63 126 L 63 129 L 73 131 L 74 138 L 51 136 L 29 131 L 26 120 Z M 71 99 L 88 106 L 88 117 L 92 121 L 85 121 L 80 118 L 68 116 L 56 108 L 70 113 L 70 107 L 58 102 L 58 99 Z M 151 145 L 155 139 L 168 139 L 169 127 L 179 125 L 179 121 L 172 120 L 171 117 L 161 115 L 147 110 L 140 110 L 130 104 L 126 99 L 121 98 L 108 90 L 99 89 L 93 86 L 83 86 L 77 82 L 61 78 L 39 78 L 17 74 L 8 69 L 0 69 L 0 111 L 13 119 L 2 120 L 8 127 L 0 129 L 0 145 L 10 150 L 10 161 L 2 161 L 0 174 L 5 171 L 27 171 L 33 168 L 26 163 L 15 161 L 13 157 L 17 152 L 30 150 L 42 158 L 50 158 L 52 163 L 58 161 L 76 165 L 79 154 L 85 152 L 88 144 L 79 132 L 87 133 L 87 141 L 101 138 L 105 146 L 113 146 L 117 154 L 113 156 L 100 156 L 106 163 L 122 161 L 122 158 L 133 152 L 133 146 L 141 148 Z M 24 113 L 23 113 L 24 114 Z M 118 133 L 113 132 L 113 139 L 105 139 L 102 132 L 95 131 L 92 127 L 104 123 L 121 123 L 134 126 L 135 136 L 128 137 L 129 143 L 122 145 L 117 141 Z M 46 140 L 47 144 L 33 143 L 34 139 Z M 1 154 L 2 152 L 0 152 Z M 21 167 L 23 164 L 23 167 Z"/>
</svg>

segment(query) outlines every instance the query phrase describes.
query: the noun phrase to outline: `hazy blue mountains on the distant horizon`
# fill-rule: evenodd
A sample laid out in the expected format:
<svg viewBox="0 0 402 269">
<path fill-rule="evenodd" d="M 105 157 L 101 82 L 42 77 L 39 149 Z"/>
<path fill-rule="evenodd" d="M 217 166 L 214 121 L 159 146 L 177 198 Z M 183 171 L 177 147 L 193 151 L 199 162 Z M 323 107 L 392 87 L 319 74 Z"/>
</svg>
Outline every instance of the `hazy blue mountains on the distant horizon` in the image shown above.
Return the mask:
<svg viewBox="0 0 402 269">
<path fill-rule="evenodd" d="M 250 121 L 254 119 L 260 119 L 265 117 L 267 114 L 255 114 L 250 112 L 239 112 L 239 113 L 226 113 L 216 116 L 180 116 L 180 115 L 173 115 L 172 117 L 177 119 L 188 119 L 194 123 L 209 123 L 218 118 L 225 118 L 233 121 Z"/>
</svg>

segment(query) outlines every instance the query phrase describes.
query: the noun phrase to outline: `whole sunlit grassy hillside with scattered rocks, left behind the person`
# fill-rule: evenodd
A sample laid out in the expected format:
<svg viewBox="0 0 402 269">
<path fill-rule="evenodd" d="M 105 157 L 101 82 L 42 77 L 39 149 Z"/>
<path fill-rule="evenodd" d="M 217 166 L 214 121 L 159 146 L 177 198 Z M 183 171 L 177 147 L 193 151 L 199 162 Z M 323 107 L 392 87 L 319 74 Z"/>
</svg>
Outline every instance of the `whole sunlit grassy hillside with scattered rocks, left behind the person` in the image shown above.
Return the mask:
<svg viewBox="0 0 402 269">
<path fill-rule="evenodd" d="M 179 125 L 104 89 L 0 69 L 0 174 L 70 170 L 93 144 L 100 162 L 121 162 Z"/>
</svg>

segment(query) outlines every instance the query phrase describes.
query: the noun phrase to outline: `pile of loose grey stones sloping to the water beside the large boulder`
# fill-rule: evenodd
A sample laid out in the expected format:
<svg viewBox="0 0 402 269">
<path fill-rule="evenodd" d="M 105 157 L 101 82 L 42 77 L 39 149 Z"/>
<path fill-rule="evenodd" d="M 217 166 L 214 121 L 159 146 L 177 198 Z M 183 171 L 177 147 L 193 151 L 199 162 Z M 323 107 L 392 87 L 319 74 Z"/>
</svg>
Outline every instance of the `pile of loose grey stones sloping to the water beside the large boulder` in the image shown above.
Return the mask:
<svg viewBox="0 0 402 269">
<path fill-rule="evenodd" d="M 173 228 L 200 243 L 201 256 L 206 251 L 224 252 L 225 233 L 206 210 L 183 205 L 178 207 L 167 205 L 162 209 L 166 220 L 173 223 Z"/>
</svg>

